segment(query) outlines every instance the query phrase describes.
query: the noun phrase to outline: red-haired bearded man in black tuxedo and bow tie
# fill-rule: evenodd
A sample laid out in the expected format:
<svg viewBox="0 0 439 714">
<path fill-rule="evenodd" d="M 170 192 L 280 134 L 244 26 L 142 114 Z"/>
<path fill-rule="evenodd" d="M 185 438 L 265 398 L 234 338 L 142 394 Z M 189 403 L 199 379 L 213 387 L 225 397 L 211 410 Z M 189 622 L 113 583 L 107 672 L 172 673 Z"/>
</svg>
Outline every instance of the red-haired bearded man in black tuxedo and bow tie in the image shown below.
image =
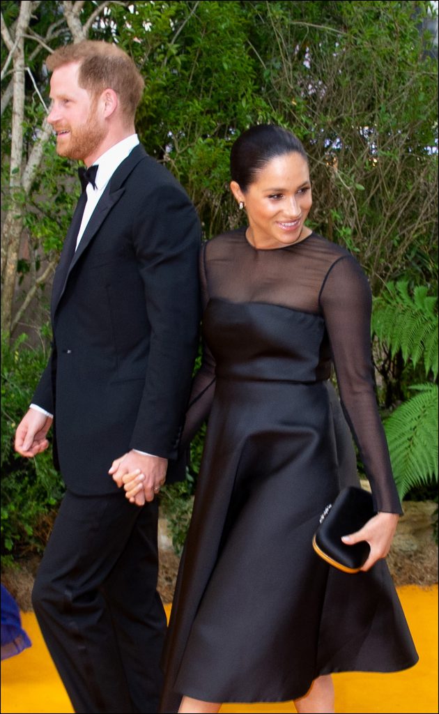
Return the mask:
<svg viewBox="0 0 439 714">
<path fill-rule="evenodd" d="M 83 41 L 47 66 L 56 150 L 84 161 L 89 183 L 54 277 L 51 360 L 16 431 L 16 451 L 36 456 L 53 418 L 66 483 L 34 609 L 76 712 L 157 712 L 154 496 L 177 456 L 196 355 L 199 221 L 138 144 L 143 79 L 128 55 Z M 136 469 L 133 504 L 116 483 Z"/>
</svg>

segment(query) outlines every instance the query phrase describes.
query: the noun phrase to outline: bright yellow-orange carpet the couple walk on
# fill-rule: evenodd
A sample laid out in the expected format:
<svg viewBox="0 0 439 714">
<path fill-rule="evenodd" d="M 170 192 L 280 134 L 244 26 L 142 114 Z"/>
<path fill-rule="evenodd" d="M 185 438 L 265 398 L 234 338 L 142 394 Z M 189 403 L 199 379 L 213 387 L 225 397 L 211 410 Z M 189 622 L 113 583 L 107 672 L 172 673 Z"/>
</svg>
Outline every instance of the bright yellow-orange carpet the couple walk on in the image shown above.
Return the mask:
<svg viewBox="0 0 439 714">
<path fill-rule="evenodd" d="M 395 674 L 334 675 L 338 714 L 438 714 L 438 585 L 398 588 L 420 661 Z M 169 613 L 170 605 L 167 606 Z M 2 714 L 73 712 L 69 698 L 41 638 L 33 613 L 23 613 L 32 646 L 1 665 Z M 295 712 L 293 703 L 225 704 L 223 713 Z M 123 713 L 121 713 L 123 714 Z"/>
</svg>

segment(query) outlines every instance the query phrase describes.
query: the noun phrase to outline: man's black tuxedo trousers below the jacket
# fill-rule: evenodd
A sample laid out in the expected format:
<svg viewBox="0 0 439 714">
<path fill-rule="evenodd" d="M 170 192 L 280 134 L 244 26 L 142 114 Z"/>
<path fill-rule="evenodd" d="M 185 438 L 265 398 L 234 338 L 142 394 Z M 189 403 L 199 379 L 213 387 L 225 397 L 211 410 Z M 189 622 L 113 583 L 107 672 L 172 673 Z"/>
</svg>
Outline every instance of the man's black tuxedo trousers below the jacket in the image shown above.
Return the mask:
<svg viewBox="0 0 439 714">
<path fill-rule="evenodd" d="M 156 591 L 158 506 L 67 492 L 32 601 L 78 713 L 156 713 L 166 615 Z"/>
</svg>

